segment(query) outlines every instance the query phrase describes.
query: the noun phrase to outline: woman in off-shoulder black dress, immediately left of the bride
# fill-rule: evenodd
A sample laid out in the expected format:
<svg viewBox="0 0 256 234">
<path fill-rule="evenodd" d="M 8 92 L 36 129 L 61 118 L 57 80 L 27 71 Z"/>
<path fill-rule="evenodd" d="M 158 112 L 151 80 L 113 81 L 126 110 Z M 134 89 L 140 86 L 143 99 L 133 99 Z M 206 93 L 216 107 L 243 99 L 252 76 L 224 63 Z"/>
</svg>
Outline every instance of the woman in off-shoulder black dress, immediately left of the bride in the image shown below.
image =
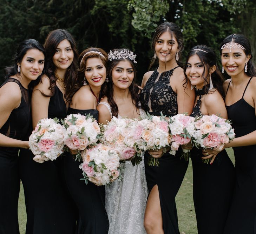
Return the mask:
<svg viewBox="0 0 256 234">
<path fill-rule="evenodd" d="M 78 82 L 76 92 L 67 114 L 91 114 L 98 121 L 96 110 L 100 96 L 106 89 L 107 54 L 100 48 L 85 49 L 79 56 Z M 106 80 L 107 82 L 107 80 Z M 76 153 L 76 152 L 73 152 Z M 62 169 L 68 190 L 79 211 L 77 234 L 107 234 L 109 220 L 105 210 L 105 187 L 88 182 L 86 185 L 81 161 L 75 161 L 71 154 L 64 153 Z"/>
</svg>

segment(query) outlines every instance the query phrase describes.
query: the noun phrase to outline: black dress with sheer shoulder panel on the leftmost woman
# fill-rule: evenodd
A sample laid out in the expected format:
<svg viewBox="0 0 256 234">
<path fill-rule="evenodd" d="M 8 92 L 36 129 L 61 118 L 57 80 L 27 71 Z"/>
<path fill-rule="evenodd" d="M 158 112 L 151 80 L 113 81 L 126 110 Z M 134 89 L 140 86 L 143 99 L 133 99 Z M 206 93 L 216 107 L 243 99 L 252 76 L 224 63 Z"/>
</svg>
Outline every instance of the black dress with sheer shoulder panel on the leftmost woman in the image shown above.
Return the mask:
<svg viewBox="0 0 256 234">
<path fill-rule="evenodd" d="M 21 91 L 21 102 L 14 109 L 8 120 L 1 127 L 0 133 L 10 138 L 24 140 L 31 121 L 31 94 L 15 78 L 8 78 L 2 85 L 15 82 Z M 0 87 L 0 88 L 1 88 Z M 18 199 L 20 176 L 18 168 L 18 151 L 16 147 L 0 147 L 0 233 L 19 233 Z"/>
</svg>

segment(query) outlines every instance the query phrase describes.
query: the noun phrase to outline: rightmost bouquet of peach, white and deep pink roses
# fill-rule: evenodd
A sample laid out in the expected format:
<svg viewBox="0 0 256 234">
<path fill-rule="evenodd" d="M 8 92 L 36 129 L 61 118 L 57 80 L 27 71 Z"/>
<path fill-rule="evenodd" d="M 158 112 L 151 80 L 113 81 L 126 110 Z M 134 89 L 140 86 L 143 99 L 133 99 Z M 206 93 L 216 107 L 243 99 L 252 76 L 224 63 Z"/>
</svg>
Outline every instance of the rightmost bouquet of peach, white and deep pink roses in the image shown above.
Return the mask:
<svg viewBox="0 0 256 234">
<path fill-rule="evenodd" d="M 203 149 L 215 149 L 221 151 L 225 144 L 235 138 L 234 128 L 230 120 L 223 119 L 216 115 L 203 115 L 195 119 L 193 134 L 196 146 Z M 210 159 L 203 162 L 209 163 Z"/>
</svg>

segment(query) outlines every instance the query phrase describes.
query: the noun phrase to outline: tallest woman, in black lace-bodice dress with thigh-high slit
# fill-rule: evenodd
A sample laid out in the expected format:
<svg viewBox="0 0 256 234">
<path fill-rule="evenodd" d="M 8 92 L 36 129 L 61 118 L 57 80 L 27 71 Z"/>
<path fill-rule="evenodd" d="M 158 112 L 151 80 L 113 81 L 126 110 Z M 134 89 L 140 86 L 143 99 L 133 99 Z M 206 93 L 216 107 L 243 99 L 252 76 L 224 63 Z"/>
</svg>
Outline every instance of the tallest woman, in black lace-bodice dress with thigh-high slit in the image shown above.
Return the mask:
<svg viewBox="0 0 256 234">
<path fill-rule="evenodd" d="M 141 103 L 145 111 L 154 115 L 173 116 L 178 113 L 191 114 L 194 91 L 185 86 L 183 69 L 179 67 L 179 56 L 183 50 L 183 36 L 173 23 L 159 25 L 152 41 L 159 66 L 155 71 L 145 73 L 142 80 Z M 184 86 L 183 86 L 184 84 Z M 175 196 L 182 183 L 188 162 L 166 153 L 166 149 L 145 153 L 145 173 L 149 197 L 147 200 L 144 226 L 146 232 L 178 234 L 178 217 Z M 148 166 L 149 154 L 159 158 L 159 167 Z"/>
</svg>

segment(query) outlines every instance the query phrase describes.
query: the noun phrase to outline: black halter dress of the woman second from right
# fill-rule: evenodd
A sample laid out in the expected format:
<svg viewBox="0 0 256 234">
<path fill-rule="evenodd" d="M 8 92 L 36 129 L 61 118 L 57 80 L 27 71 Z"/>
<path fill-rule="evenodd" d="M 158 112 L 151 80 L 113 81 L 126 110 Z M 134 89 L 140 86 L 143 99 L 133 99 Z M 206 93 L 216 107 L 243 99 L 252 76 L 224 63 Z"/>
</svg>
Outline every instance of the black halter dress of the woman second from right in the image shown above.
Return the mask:
<svg viewBox="0 0 256 234">
<path fill-rule="evenodd" d="M 201 98 L 191 116 L 201 116 Z M 202 162 L 202 149 L 190 151 L 193 167 L 193 200 L 198 234 L 222 234 L 235 186 L 235 168 L 227 152 L 220 152 L 212 165 Z"/>
</svg>

